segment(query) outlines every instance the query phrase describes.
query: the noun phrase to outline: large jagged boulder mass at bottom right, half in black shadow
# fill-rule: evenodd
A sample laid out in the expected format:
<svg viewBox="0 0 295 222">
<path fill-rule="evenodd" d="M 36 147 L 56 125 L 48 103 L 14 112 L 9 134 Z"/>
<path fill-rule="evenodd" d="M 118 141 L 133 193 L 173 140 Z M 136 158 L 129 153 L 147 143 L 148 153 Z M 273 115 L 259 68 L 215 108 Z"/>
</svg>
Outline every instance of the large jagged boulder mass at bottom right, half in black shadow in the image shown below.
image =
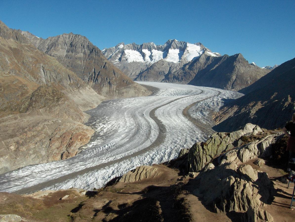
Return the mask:
<svg viewBox="0 0 295 222">
<path fill-rule="evenodd" d="M 217 213 L 246 212 L 241 218 L 244 221 L 273 221 L 272 216 L 261 209 L 273 189 L 266 173 L 250 165 L 227 162 L 202 171 L 196 180 L 198 187 L 194 194 L 203 198 L 205 205 L 213 206 Z"/>
</svg>

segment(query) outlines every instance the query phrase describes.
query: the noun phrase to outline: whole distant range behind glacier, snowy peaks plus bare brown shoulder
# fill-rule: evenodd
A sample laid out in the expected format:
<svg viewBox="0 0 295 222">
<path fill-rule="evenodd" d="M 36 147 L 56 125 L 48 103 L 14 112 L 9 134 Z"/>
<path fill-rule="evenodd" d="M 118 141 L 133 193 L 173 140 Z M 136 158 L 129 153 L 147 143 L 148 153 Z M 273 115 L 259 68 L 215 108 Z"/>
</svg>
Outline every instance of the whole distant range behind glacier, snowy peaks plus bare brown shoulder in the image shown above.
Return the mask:
<svg viewBox="0 0 295 222">
<path fill-rule="evenodd" d="M 238 91 L 251 85 L 270 70 L 249 64 L 241 54 L 221 56 L 200 42 L 191 44 L 168 40 L 105 48 L 102 53 L 130 78 L 211 86 Z"/>
</svg>

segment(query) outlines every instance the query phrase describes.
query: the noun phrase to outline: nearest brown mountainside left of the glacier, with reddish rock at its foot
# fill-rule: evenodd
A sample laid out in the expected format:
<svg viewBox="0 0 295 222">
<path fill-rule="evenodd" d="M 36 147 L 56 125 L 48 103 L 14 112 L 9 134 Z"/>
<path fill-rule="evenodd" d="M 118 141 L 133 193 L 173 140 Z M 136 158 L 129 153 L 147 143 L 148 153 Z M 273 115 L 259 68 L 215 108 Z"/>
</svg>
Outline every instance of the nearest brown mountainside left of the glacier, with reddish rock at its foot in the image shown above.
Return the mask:
<svg viewBox="0 0 295 222">
<path fill-rule="evenodd" d="M 0 21 L 0 173 L 66 159 L 93 130 L 83 125 L 105 98 Z"/>
</svg>

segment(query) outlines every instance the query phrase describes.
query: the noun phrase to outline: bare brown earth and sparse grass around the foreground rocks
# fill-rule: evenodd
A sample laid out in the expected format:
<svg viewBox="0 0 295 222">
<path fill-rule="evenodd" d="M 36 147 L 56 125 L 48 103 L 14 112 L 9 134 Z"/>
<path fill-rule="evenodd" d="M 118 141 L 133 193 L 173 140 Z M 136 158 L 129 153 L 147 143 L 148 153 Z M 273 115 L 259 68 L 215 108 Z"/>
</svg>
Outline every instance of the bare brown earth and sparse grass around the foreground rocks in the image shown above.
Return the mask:
<svg viewBox="0 0 295 222">
<path fill-rule="evenodd" d="M 275 188 L 273 200 L 263 209 L 274 221 L 292 221 L 295 211 L 289 207 L 293 184 L 287 188 L 280 182 L 286 172 L 268 162 L 258 167 L 253 164 L 255 160 L 245 164 L 266 172 Z M 240 214 L 214 213 L 204 205 L 204 200 L 193 194 L 194 179 L 163 165 L 156 167 L 165 173 L 132 183 L 117 182 L 88 191 L 86 196 L 74 189 L 22 196 L 0 193 L 0 214 L 17 214 L 28 221 L 240 221 Z M 69 197 L 59 200 L 65 195 Z"/>
</svg>

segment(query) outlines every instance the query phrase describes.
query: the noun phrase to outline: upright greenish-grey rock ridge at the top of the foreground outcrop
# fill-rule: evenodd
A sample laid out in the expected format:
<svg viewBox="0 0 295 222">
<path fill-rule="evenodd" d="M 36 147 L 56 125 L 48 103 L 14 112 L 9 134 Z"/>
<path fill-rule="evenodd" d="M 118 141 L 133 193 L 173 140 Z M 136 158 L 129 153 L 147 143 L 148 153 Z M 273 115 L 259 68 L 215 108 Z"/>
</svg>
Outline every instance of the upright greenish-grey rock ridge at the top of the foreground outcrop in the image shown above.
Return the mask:
<svg viewBox="0 0 295 222">
<path fill-rule="evenodd" d="M 195 143 L 188 154 L 189 172 L 199 172 L 214 157 L 234 148 L 234 142 L 244 135 L 262 132 L 259 126 L 246 124 L 244 129 L 231 133 L 214 133 L 206 142 Z"/>
</svg>

